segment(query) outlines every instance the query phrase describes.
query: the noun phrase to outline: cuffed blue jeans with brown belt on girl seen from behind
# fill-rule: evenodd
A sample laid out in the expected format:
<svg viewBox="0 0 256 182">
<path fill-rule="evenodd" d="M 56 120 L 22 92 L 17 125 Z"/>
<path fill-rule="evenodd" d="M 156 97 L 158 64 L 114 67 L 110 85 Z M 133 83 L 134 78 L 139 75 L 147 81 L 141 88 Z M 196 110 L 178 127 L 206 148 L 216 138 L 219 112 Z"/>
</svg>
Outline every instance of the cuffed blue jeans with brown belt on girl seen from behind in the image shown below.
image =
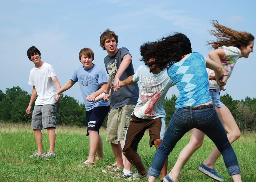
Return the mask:
<svg viewBox="0 0 256 182">
<path fill-rule="evenodd" d="M 227 139 L 227 134 L 214 107 L 197 110 L 192 110 L 190 107 L 190 110 L 183 108 L 175 110 L 163 141 L 153 157 L 152 165 L 148 171 L 149 175 L 159 177 L 165 159 L 181 137 L 192 128 L 201 130 L 214 142 L 223 156 L 230 175 L 241 173 L 235 152 Z"/>
</svg>

